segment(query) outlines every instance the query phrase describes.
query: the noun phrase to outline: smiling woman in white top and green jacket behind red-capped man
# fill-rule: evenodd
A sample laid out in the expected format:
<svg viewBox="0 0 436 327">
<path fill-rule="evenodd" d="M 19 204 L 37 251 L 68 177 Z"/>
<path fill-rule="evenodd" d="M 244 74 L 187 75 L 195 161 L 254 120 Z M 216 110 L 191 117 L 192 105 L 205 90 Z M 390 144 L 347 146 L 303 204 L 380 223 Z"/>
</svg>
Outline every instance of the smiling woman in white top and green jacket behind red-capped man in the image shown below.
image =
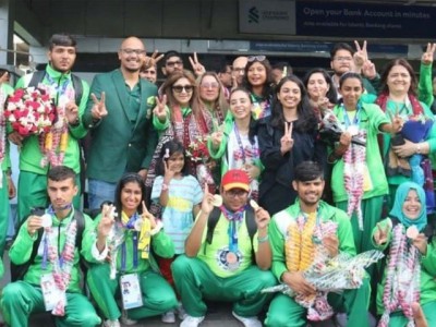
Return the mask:
<svg viewBox="0 0 436 327">
<path fill-rule="evenodd" d="M 229 169 L 247 172 L 251 197 L 257 201 L 262 164 L 251 109 L 250 93 L 242 87 L 233 89 L 230 94 L 231 116 L 226 119 L 223 131 L 211 134 L 207 147 L 210 157 L 221 159 L 221 175 Z"/>
</svg>

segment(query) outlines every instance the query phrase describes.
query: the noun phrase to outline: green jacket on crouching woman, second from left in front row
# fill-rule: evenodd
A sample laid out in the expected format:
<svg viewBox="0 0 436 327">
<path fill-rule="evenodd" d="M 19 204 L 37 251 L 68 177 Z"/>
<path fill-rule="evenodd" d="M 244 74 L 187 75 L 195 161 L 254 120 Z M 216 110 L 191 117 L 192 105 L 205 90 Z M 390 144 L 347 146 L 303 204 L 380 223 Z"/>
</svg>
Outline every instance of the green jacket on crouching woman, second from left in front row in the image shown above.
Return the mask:
<svg viewBox="0 0 436 327">
<path fill-rule="evenodd" d="M 97 230 L 98 223 L 101 220 L 101 214 L 98 215 L 95 219 L 95 228 Z M 133 230 L 125 230 L 124 232 L 124 238 L 125 238 L 125 253 L 126 253 L 126 259 L 125 259 L 125 274 L 131 274 L 131 272 L 142 272 L 146 271 L 149 268 L 152 268 L 155 271 L 159 271 L 159 267 L 156 263 L 155 257 L 153 256 L 154 253 L 156 253 L 158 256 L 164 257 L 164 258 L 170 258 L 174 256 L 174 244 L 172 243 L 170 237 L 168 237 L 164 229 L 161 229 L 157 234 L 152 237 L 152 252 L 149 253 L 148 259 L 142 259 L 141 258 L 141 253 L 138 253 L 138 259 L 137 259 L 137 267 L 134 267 L 133 264 L 133 233 L 135 231 Z M 117 256 L 117 270 L 121 271 L 121 246 L 118 250 L 118 256 Z M 107 264 L 107 263 L 105 263 Z"/>
</svg>

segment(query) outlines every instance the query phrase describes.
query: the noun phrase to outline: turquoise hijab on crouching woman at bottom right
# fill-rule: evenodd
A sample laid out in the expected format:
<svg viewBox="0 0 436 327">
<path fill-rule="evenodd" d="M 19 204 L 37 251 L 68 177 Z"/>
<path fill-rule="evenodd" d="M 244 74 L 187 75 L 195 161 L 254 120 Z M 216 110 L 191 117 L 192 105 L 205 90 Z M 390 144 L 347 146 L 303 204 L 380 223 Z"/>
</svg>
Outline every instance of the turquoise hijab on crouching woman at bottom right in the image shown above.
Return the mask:
<svg viewBox="0 0 436 327">
<path fill-rule="evenodd" d="M 405 197 L 408 196 L 410 190 L 416 191 L 417 197 L 421 202 L 421 211 L 416 219 L 409 219 L 409 217 L 402 213 L 402 205 L 404 204 Z M 389 215 L 400 220 L 405 228 L 415 225 L 417 230 L 421 232 L 427 225 L 427 208 L 425 206 L 425 193 L 423 187 L 414 182 L 402 183 L 397 189 L 393 207 Z"/>
</svg>

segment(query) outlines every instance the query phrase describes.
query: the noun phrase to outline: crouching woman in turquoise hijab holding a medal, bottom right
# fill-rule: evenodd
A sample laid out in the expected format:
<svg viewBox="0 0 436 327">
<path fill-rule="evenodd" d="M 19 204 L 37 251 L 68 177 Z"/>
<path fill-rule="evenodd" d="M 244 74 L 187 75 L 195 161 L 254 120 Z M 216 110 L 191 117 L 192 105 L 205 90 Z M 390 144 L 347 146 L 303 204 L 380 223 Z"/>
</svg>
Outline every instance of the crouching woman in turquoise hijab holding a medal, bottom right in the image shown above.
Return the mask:
<svg viewBox="0 0 436 327">
<path fill-rule="evenodd" d="M 389 218 L 373 231 L 379 250 L 389 246 L 384 278 L 377 286 L 379 327 L 413 325 L 412 304 L 421 303 L 428 326 L 436 326 L 436 243 L 427 244 L 424 190 L 402 183 Z"/>
</svg>

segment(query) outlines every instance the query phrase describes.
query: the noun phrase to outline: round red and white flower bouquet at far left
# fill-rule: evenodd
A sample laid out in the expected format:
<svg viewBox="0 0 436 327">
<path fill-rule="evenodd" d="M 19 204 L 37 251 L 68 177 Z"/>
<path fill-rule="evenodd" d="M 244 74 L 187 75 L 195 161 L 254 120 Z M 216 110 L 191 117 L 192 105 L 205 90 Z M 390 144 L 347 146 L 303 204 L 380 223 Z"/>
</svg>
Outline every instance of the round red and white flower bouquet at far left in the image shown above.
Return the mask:
<svg viewBox="0 0 436 327">
<path fill-rule="evenodd" d="M 50 95 L 40 88 L 19 88 L 8 97 L 4 117 L 22 136 L 39 135 L 50 131 L 56 119 L 56 106 Z"/>
</svg>

